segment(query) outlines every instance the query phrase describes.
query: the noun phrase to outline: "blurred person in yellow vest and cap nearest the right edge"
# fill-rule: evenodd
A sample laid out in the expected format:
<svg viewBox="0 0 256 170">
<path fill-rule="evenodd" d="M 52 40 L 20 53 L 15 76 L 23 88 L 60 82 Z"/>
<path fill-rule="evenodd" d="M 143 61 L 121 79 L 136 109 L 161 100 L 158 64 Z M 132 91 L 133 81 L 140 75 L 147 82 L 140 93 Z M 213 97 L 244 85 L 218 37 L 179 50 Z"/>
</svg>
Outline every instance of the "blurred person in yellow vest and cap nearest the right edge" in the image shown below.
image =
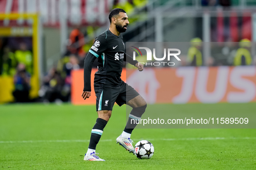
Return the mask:
<svg viewBox="0 0 256 170">
<path fill-rule="evenodd" d="M 245 66 L 251 65 L 252 57 L 250 54 L 251 41 L 247 38 L 242 39 L 239 42 L 240 48 L 237 49 L 237 52 L 234 57 L 234 66 Z"/>
</svg>

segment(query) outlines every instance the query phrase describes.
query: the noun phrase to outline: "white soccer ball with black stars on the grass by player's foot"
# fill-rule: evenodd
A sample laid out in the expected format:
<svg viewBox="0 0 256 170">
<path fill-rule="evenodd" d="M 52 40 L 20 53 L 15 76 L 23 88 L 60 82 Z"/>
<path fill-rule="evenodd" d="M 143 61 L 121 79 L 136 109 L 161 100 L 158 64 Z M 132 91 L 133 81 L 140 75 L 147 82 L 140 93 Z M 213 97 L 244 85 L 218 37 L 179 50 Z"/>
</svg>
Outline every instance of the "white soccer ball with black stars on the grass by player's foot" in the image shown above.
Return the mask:
<svg viewBox="0 0 256 170">
<path fill-rule="evenodd" d="M 139 159 L 149 159 L 154 154 L 154 146 L 149 141 L 139 141 L 135 145 L 134 153 Z"/>
</svg>

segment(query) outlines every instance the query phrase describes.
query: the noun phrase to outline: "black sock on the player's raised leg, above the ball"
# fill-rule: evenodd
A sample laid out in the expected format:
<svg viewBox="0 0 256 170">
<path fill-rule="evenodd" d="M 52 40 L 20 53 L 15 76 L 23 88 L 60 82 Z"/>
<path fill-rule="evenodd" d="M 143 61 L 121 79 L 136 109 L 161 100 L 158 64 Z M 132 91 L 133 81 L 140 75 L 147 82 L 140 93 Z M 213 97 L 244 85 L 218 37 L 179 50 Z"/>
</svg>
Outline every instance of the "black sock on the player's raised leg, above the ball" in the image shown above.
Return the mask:
<svg viewBox="0 0 256 170">
<path fill-rule="evenodd" d="M 133 129 L 137 126 L 138 121 L 146 110 L 147 105 L 141 107 L 134 107 L 129 115 L 124 132 L 132 134 Z M 132 121 L 131 121 L 132 120 Z M 137 122 L 137 123 L 136 123 Z"/>
</svg>

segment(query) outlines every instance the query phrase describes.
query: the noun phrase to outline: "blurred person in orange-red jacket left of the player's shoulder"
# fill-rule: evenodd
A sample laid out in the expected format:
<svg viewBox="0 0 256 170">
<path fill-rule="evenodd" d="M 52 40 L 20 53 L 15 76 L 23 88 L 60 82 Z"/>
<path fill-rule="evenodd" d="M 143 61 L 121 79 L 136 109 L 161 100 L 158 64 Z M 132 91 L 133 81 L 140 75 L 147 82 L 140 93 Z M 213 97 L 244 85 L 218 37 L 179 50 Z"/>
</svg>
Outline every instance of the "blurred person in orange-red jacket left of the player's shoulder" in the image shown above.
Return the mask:
<svg viewBox="0 0 256 170">
<path fill-rule="evenodd" d="M 68 50 L 71 54 L 78 55 L 79 57 L 84 57 L 85 53 L 83 50 L 84 34 L 80 30 L 80 26 L 73 29 L 69 35 L 70 44 L 68 45 Z"/>
</svg>

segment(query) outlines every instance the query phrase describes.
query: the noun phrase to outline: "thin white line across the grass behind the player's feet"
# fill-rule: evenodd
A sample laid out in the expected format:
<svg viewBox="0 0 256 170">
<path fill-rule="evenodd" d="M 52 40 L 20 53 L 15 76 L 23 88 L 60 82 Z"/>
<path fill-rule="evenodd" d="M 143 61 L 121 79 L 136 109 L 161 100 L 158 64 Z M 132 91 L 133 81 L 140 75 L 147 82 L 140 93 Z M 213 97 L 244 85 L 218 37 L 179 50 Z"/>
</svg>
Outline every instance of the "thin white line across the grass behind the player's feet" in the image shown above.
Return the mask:
<svg viewBox="0 0 256 170">
<path fill-rule="evenodd" d="M 196 140 L 233 140 L 233 139 L 256 139 L 256 137 L 243 138 L 223 138 L 223 137 L 208 137 L 208 138 L 179 138 L 179 139 L 134 139 L 134 141 L 148 140 L 148 141 L 196 141 Z M 103 139 L 100 142 L 112 142 L 112 139 Z M 0 143 L 49 143 L 49 142 L 90 142 L 90 140 L 38 140 L 38 141 L 0 141 Z"/>
</svg>

